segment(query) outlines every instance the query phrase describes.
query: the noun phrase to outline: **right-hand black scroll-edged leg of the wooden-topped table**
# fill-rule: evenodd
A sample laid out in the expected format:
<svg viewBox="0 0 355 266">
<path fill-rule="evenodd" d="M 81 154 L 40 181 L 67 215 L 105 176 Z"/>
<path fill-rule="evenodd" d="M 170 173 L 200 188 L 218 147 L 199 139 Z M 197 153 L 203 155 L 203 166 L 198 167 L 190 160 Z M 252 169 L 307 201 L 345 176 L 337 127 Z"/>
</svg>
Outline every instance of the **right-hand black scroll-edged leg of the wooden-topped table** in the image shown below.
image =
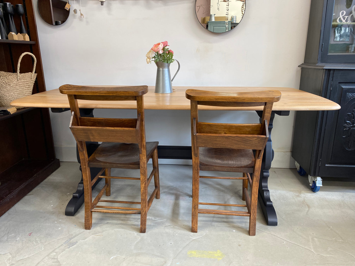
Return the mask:
<svg viewBox="0 0 355 266">
<path fill-rule="evenodd" d="M 260 122 L 261 117 L 262 117 L 262 111 L 256 111 L 258 116 L 260 117 Z M 261 164 L 261 176 L 260 176 L 260 182 L 259 182 L 259 195 L 258 195 L 258 200 L 261 206 L 261 209 L 263 211 L 265 220 L 267 225 L 271 226 L 276 226 L 277 225 L 277 216 L 276 212 L 274 209 L 274 206 L 272 205 L 272 201 L 270 199 L 270 191 L 268 188 L 268 178 L 270 176 L 269 170 L 271 168 L 271 162 L 274 159 L 274 150 L 272 149 L 272 140 L 271 140 L 271 131 L 273 128 L 273 121 L 275 114 L 280 115 L 280 116 L 288 116 L 290 114 L 290 111 L 272 111 L 271 112 L 271 117 L 270 117 L 270 122 L 269 122 L 269 139 L 266 143 L 265 149 L 264 149 L 264 154 L 263 154 L 263 160 Z"/>
</svg>

